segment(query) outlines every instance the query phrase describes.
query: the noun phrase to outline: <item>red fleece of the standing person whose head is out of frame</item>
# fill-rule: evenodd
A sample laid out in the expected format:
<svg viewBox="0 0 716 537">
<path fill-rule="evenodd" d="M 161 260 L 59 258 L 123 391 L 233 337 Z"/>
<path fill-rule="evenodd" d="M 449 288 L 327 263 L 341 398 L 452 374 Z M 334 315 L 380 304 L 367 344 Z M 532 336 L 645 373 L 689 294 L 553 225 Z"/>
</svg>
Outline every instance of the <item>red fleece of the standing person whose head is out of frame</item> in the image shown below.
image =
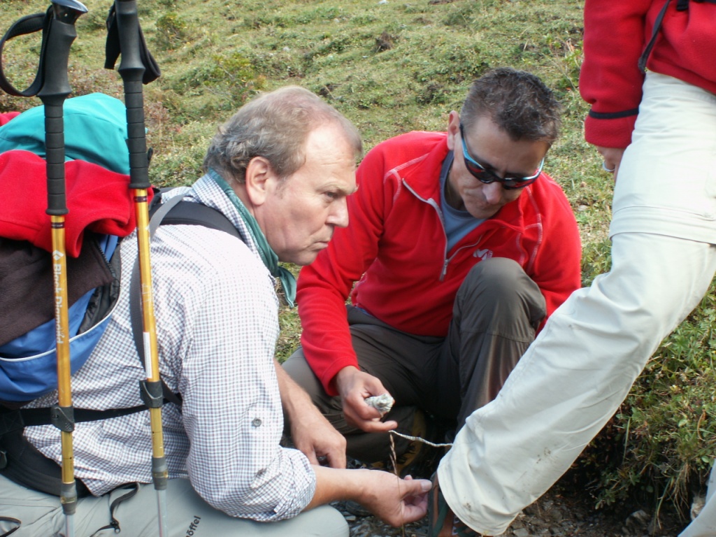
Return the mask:
<svg viewBox="0 0 716 537">
<path fill-rule="evenodd" d="M 666 0 L 586 0 L 584 63 L 579 90 L 592 105 L 585 137 L 602 147 L 627 147 L 642 101 L 639 57 Z M 647 69 L 716 93 L 716 4 L 669 1 Z"/>
</svg>

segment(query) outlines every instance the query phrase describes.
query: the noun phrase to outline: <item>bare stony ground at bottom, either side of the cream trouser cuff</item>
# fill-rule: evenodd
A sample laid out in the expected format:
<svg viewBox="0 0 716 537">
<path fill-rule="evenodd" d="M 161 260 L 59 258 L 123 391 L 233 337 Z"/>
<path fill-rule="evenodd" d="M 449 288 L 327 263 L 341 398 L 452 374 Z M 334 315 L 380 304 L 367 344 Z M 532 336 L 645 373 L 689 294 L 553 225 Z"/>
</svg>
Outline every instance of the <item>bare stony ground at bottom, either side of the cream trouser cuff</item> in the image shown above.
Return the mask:
<svg viewBox="0 0 716 537">
<path fill-rule="evenodd" d="M 392 528 L 354 505 L 336 503 L 351 528 L 351 537 L 425 537 L 427 517 L 405 528 Z M 639 509 L 631 514 L 594 509 L 594 500 L 559 486 L 526 508 L 504 537 L 676 537 L 684 522 L 661 513 L 659 524 Z"/>
</svg>

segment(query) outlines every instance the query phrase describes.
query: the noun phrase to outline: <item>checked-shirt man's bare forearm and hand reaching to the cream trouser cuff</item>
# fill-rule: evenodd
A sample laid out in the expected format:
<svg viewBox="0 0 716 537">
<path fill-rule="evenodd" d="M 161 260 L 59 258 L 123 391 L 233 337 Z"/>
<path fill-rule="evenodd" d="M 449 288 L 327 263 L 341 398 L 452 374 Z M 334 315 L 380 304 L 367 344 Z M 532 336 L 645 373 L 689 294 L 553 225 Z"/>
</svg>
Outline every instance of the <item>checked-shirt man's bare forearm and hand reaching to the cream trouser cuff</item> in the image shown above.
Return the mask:
<svg viewBox="0 0 716 537">
<path fill-rule="evenodd" d="M 335 500 L 354 500 L 391 526 L 420 520 L 427 513 L 427 479 L 400 479 L 381 470 L 334 470 L 314 466 L 316 492 L 306 509 Z"/>
</svg>

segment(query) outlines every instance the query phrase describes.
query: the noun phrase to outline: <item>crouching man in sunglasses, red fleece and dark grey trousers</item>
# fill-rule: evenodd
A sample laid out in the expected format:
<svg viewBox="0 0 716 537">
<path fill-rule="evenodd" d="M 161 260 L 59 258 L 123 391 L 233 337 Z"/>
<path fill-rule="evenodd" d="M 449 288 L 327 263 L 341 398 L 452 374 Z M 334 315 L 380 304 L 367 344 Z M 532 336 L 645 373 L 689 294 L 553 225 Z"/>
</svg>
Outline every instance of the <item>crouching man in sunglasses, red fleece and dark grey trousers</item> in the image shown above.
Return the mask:
<svg viewBox="0 0 716 537">
<path fill-rule="evenodd" d="M 301 270 L 302 347 L 284 364 L 352 458 L 390 460 L 389 430 L 462 427 L 579 287 L 574 214 L 542 172 L 559 108 L 537 77 L 495 69 L 448 132 L 397 136 L 359 166 L 348 228 Z M 386 393 L 382 416 L 365 400 Z M 394 440 L 399 470 L 430 452 Z"/>
</svg>

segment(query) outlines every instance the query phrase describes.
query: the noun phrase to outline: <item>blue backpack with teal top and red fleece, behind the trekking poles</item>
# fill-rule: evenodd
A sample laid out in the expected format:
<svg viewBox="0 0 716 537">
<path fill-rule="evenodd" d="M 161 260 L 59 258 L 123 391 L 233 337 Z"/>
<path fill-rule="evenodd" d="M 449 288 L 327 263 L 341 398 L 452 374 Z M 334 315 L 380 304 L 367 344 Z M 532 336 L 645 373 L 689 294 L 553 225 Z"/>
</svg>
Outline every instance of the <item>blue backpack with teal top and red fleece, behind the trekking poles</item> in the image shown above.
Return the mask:
<svg viewBox="0 0 716 537">
<path fill-rule="evenodd" d="M 94 231 L 87 232 L 84 221 L 74 229 L 73 221 L 67 222 L 68 271 L 76 276 L 70 277 L 67 286 L 74 373 L 102 337 L 116 305 L 120 267 L 119 256 L 115 258 L 113 253 L 120 236 L 130 233 L 135 223 L 127 176 L 130 165 L 125 106 L 120 100 L 95 93 L 68 99 L 63 117 L 67 132 L 72 132 L 65 143 L 69 203 L 74 201 L 69 198 L 79 199 L 73 185 L 88 177 L 96 183 L 95 192 L 82 192 L 82 203 L 91 205 L 97 198 L 107 199 L 99 210 L 83 208 L 87 218 L 92 219 L 87 229 Z M 37 399 L 57 387 L 50 298 L 52 247 L 47 241 L 49 219 L 44 214 L 47 186 L 41 179 L 46 173 L 42 157 L 44 106 L 27 110 L 0 127 L 0 282 L 4 289 L 0 309 L 0 401 L 15 404 Z M 117 208 L 120 204 L 121 210 Z M 98 226 L 95 221 L 100 216 L 125 214 L 130 215 L 126 222 L 105 221 L 106 225 Z"/>
</svg>

